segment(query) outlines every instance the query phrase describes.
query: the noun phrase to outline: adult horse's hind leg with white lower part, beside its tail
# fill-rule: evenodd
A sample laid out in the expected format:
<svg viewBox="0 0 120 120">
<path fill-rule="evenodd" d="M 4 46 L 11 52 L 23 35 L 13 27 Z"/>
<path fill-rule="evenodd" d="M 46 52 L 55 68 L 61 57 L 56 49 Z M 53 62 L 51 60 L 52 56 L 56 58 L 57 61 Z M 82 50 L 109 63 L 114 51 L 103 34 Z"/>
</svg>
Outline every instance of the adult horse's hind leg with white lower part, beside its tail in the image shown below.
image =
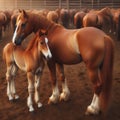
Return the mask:
<svg viewBox="0 0 120 120">
<path fill-rule="evenodd" d="M 94 96 L 91 104 L 87 107 L 86 114 L 99 114 L 100 108 L 100 92 L 102 90 L 102 83 L 99 79 L 99 69 L 88 69 L 89 78 L 93 83 Z"/>
</svg>

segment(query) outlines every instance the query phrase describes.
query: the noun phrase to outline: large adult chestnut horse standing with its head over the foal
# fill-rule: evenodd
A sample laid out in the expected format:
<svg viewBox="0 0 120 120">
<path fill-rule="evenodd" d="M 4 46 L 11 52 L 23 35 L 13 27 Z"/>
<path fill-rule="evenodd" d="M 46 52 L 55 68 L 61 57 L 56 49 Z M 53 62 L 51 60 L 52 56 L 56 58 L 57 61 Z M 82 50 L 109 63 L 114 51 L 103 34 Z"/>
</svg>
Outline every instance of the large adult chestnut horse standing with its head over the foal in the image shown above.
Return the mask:
<svg viewBox="0 0 120 120">
<path fill-rule="evenodd" d="M 64 75 L 63 64 L 71 65 L 83 61 L 94 90 L 93 100 L 88 106 L 86 114 L 98 114 L 107 108 L 110 100 L 114 59 L 114 44 L 109 36 L 93 27 L 66 29 L 43 16 L 24 10 L 19 14 L 16 26 L 13 35 L 13 43 L 16 45 L 20 45 L 27 35 L 36 32 L 39 28 L 48 30 L 47 37 L 52 59 L 47 64 L 53 87 L 49 103 L 56 103 L 59 97 L 60 100 L 69 99 L 70 91 Z M 56 64 L 62 81 L 61 94 L 59 94 L 56 80 Z"/>
</svg>

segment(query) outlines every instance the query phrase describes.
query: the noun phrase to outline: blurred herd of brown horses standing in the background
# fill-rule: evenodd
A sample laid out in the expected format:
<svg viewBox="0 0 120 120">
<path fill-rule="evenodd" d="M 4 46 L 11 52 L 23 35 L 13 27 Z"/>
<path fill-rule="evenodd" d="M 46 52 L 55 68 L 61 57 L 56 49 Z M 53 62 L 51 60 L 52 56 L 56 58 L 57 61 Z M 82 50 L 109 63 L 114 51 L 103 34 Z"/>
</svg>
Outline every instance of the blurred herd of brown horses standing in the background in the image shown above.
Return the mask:
<svg viewBox="0 0 120 120">
<path fill-rule="evenodd" d="M 27 10 L 38 15 L 43 15 L 47 19 L 55 23 L 62 24 L 65 28 L 82 28 L 82 27 L 97 27 L 104 32 L 113 33 L 117 40 L 120 39 L 120 9 L 112 9 L 105 7 L 100 10 L 95 9 L 56 9 L 50 11 L 43 10 Z M 0 40 L 2 39 L 2 31 L 6 30 L 7 26 L 11 26 L 15 30 L 15 23 L 19 10 L 4 10 L 0 11 Z"/>
</svg>

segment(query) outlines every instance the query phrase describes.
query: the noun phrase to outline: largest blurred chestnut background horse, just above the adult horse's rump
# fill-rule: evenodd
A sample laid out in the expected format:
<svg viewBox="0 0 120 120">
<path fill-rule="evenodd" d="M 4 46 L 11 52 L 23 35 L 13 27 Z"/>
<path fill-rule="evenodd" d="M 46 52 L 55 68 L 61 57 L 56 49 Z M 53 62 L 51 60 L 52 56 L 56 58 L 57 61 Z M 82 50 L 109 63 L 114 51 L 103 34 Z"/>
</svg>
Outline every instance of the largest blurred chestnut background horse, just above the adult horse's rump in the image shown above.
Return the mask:
<svg viewBox="0 0 120 120">
<path fill-rule="evenodd" d="M 97 27 L 106 32 L 110 32 L 113 24 L 113 15 L 110 8 L 106 7 L 99 11 L 92 10 L 83 18 L 84 27 Z"/>
</svg>

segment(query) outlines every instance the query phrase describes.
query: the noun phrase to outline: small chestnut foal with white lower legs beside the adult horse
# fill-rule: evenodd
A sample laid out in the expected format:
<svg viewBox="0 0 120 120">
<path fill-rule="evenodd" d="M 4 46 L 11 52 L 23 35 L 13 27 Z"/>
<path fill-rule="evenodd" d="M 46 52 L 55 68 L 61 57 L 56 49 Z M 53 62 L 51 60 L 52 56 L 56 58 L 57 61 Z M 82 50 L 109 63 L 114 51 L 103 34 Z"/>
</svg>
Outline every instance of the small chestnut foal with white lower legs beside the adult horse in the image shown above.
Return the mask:
<svg viewBox="0 0 120 120">
<path fill-rule="evenodd" d="M 28 92 L 27 105 L 29 111 L 33 108 L 33 92 L 35 88 L 35 102 L 41 107 L 39 98 L 39 83 L 44 69 L 44 59 L 50 59 L 52 54 L 48 47 L 48 39 L 43 32 L 38 31 L 35 38 L 28 44 L 24 50 L 21 46 L 16 46 L 12 42 L 8 43 L 3 49 L 3 59 L 7 66 L 7 96 L 9 100 L 18 99 L 16 94 L 14 78 L 18 68 L 27 73 Z M 35 81 L 33 80 L 35 78 Z"/>
</svg>

